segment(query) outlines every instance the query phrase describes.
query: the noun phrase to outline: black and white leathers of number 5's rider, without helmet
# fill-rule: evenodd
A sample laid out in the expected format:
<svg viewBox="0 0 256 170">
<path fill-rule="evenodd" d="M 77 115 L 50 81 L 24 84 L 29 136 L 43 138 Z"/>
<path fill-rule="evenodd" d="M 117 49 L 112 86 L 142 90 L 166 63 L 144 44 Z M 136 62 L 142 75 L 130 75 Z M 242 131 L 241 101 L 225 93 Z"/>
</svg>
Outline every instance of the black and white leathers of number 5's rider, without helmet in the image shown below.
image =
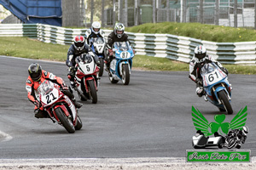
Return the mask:
<svg viewBox="0 0 256 170">
<path fill-rule="evenodd" d="M 91 48 L 87 44 L 84 44 L 84 48 L 82 50 L 77 50 L 76 48 L 74 48 L 74 45 L 72 44 L 67 51 L 67 60 L 66 60 L 66 65 L 69 67 L 69 73 L 67 74 L 67 76 L 69 76 L 69 80 L 72 88 L 75 88 L 74 76 L 75 76 L 76 58 L 79 55 L 84 53 L 90 54 L 93 57 L 96 65 L 98 66 L 100 65 L 98 56 L 92 52 Z"/>
</svg>

